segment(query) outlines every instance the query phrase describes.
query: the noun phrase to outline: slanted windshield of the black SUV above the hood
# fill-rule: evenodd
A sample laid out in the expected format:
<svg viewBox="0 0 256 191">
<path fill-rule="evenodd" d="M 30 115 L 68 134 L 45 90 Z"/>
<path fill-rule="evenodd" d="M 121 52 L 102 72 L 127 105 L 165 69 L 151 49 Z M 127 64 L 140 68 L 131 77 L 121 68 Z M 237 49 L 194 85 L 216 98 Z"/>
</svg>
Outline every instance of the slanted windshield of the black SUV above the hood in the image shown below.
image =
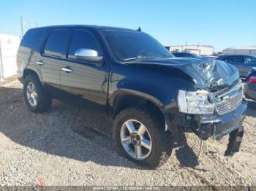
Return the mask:
<svg viewBox="0 0 256 191">
<path fill-rule="evenodd" d="M 118 61 L 174 57 L 156 39 L 139 31 L 102 31 Z"/>
</svg>

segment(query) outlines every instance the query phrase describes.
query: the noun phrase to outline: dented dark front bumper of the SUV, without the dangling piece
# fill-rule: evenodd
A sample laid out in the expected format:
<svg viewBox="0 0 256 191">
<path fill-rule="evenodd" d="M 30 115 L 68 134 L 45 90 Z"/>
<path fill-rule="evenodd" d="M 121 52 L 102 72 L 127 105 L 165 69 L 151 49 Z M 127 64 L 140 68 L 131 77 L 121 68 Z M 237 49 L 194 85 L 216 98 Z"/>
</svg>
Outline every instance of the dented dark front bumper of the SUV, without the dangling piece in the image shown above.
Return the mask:
<svg viewBox="0 0 256 191">
<path fill-rule="evenodd" d="M 213 136 L 214 139 L 222 139 L 239 128 L 246 116 L 247 104 L 242 103 L 233 112 L 219 115 L 193 115 L 193 114 L 165 114 L 166 129 L 176 133 L 179 128 L 194 131 L 200 139 L 206 140 Z"/>
</svg>

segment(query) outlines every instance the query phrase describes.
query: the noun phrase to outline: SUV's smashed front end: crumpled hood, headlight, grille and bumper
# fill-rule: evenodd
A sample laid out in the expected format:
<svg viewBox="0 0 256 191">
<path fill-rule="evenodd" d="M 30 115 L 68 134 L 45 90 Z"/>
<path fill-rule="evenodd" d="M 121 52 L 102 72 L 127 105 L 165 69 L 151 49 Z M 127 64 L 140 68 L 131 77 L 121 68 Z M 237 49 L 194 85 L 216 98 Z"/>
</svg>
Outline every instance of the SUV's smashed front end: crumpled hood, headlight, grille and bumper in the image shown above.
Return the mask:
<svg viewBox="0 0 256 191">
<path fill-rule="evenodd" d="M 173 77 L 170 83 L 176 101 L 172 100 L 165 107 L 166 130 L 174 134 L 181 128 L 192 130 L 203 140 L 210 136 L 219 140 L 229 134 L 225 155 L 239 150 L 247 105 L 234 66 L 223 61 L 194 58 L 152 59 L 141 63 L 145 67 L 162 69 L 162 74 Z M 192 85 L 174 85 L 177 78 Z"/>
</svg>

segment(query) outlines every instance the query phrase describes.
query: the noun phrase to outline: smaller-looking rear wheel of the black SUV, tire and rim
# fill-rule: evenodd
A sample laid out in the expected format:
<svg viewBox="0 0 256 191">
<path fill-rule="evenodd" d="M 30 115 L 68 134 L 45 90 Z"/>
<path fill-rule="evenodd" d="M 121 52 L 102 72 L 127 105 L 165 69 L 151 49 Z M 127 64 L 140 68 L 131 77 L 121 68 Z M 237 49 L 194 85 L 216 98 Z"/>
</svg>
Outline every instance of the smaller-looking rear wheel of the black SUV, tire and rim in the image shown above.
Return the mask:
<svg viewBox="0 0 256 191">
<path fill-rule="evenodd" d="M 31 112 L 42 113 L 50 109 L 52 98 L 46 93 L 36 75 L 29 75 L 24 79 L 23 95 Z"/>
</svg>

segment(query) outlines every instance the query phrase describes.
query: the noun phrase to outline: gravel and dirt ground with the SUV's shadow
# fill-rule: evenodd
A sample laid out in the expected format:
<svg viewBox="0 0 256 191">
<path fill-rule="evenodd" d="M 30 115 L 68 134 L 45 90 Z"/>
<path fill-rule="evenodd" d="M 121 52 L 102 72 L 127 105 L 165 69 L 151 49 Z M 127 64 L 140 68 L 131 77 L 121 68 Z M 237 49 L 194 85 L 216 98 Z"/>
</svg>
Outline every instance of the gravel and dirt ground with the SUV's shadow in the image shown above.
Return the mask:
<svg viewBox="0 0 256 191">
<path fill-rule="evenodd" d="M 0 185 L 256 185 L 256 103 L 249 101 L 241 152 L 224 157 L 227 137 L 176 137 L 170 160 L 147 170 L 116 154 L 110 124 L 86 109 L 53 101 L 30 112 L 15 78 L 0 82 Z"/>
</svg>

